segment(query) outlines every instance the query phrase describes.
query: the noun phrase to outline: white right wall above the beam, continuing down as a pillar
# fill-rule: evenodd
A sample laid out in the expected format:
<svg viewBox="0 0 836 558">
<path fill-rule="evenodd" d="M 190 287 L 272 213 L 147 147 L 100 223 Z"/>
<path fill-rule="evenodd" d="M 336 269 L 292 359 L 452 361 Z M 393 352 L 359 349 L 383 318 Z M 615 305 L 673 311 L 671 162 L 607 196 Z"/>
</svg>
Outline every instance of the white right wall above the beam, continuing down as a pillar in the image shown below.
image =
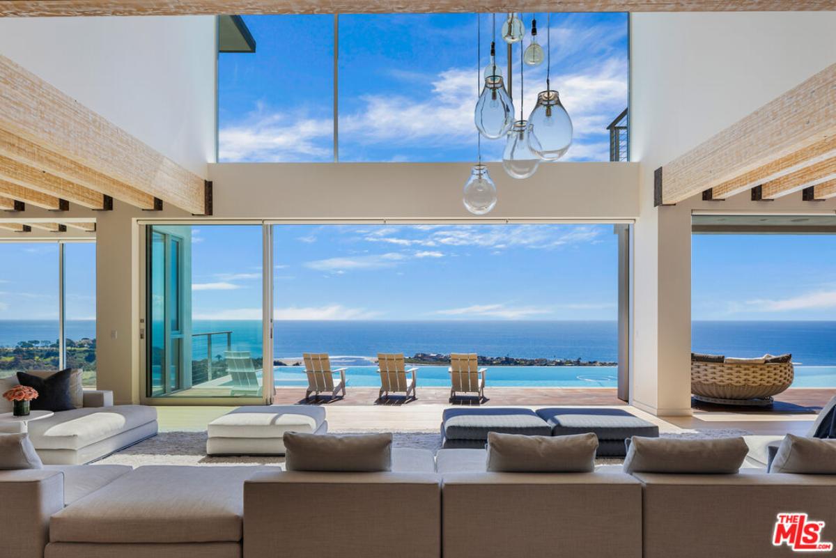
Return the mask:
<svg viewBox="0 0 836 558">
<path fill-rule="evenodd" d="M 630 18 L 635 227 L 633 398 L 690 413 L 691 211 L 833 211 L 834 203 L 688 200 L 653 207 L 653 171 L 836 62 L 836 13 L 637 13 Z"/>
</svg>

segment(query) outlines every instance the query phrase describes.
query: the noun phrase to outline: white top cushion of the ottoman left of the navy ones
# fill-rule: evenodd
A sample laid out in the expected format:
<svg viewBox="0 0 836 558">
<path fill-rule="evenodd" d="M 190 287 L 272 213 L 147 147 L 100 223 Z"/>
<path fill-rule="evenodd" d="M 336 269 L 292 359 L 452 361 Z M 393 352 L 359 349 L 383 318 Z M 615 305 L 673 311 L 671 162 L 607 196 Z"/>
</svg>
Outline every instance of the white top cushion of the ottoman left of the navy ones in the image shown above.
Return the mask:
<svg viewBox="0 0 836 558">
<path fill-rule="evenodd" d="M 303 405 L 239 407 L 209 423 L 209 438 L 282 438 L 310 434 L 325 422 L 325 409 Z"/>
</svg>

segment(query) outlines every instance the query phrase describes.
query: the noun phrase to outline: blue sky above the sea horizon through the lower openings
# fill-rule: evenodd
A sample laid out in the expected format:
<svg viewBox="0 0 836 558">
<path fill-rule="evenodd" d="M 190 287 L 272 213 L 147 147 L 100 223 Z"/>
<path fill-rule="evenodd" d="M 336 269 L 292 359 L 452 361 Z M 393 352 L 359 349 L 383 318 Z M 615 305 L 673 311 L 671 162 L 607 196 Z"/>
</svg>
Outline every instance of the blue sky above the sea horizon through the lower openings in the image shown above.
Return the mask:
<svg viewBox="0 0 836 558">
<path fill-rule="evenodd" d="M 193 316 L 261 315 L 261 226 L 192 230 Z M 68 244 L 67 315 L 95 316 Z M 276 226 L 278 319 L 615 319 L 612 226 Z M 696 235 L 696 320 L 836 319 L 836 236 Z M 58 246 L 0 243 L 0 320 L 58 316 Z"/>
</svg>

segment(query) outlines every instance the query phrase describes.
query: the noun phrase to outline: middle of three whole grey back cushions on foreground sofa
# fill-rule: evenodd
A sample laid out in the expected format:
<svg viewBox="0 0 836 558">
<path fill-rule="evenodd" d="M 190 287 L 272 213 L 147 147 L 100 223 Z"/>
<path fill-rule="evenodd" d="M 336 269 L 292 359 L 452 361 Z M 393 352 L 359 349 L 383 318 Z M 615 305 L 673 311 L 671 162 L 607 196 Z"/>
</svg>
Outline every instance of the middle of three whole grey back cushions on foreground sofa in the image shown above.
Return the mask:
<svg viewBox="0 0 836 558">
<path fill-rule="evenodd" d="M 496 473 L 591 473 L 595 434 L 520 436 L 487 434 L 487 470 Z"/>
</svg>

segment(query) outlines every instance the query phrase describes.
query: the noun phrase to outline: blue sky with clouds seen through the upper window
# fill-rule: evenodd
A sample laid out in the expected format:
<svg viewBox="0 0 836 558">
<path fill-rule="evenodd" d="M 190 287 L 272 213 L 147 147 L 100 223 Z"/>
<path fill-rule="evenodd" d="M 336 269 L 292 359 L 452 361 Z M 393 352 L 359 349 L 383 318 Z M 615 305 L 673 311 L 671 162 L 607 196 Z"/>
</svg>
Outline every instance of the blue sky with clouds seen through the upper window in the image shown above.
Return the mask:
<svg viewBox="0 0 836 558">
<path fill-rule="evenodd" d="M 530 29 L 532 14 L 523 14 Z M 497 14 L 497 33 L 505 14 Z M 329 15 L 245 16 L 257 53 L 218 65 L 222 161 L 333 160 L 334 20 Z M 481 17 L 488 62 L 491 18 Z M 627 105 L 627 15 L 552 16 L 552 85 L 574 124 L 565 160 L 609 160 L 606 126 Z M 546 14 L 538 14 L 546 46 Z M 523 41 L 528 45 L 530 33 Z M 499 38 L 499 47 L 504 46 Z M 518 103 L 519 44 L 513 89 Z M 497 48 L 505 68 L 507 55 Z M 524 114 L 545 89 L 543 63 L 525 68 Z M 339 159 L 470 161 L 476 158 L 476 14 L 339 17 Z M 519 105 L 517 104 L 517 114 Z M 504 142 L 483 141 L 500 160 Z"/>
</svg>

